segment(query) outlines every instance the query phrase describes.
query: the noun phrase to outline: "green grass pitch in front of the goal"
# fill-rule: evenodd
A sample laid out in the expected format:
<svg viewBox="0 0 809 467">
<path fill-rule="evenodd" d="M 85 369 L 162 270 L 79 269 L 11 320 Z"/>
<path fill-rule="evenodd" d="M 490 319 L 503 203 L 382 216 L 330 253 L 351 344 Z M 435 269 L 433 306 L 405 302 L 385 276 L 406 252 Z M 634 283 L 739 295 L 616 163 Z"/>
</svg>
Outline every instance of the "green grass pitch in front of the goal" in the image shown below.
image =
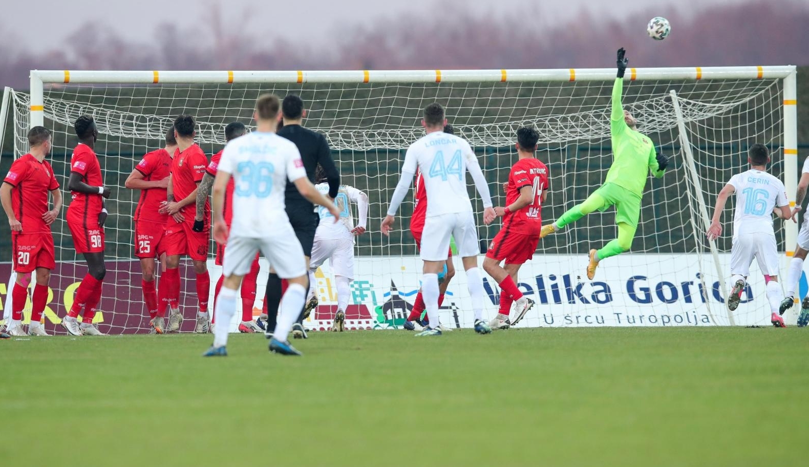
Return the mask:
<svg viewBox="0 0 809 467">
<path fill-rule="evenodd" d="M 806 465 L 805 329 L 0 342 L 0 465 Z"/>
</svg>

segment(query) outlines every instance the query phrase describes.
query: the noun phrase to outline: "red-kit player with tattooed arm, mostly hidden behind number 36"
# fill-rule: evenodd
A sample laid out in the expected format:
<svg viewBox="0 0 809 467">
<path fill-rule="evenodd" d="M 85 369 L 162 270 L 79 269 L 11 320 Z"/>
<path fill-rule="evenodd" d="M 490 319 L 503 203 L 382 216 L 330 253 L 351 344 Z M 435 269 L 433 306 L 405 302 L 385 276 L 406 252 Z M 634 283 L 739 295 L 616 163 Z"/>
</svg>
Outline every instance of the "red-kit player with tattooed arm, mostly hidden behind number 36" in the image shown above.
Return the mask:
<svg viewBox="0 0 809 467">
<path fill-rule="evenodd" d="M 232 139 L 239 138 L 247 134 L 248 129 L 243 123 L 232 121 L 225 126 L 225 141 L 230 142 Z M 197 189 L 197 214 L 194 216 L 194 231 L 202 231 L 205 228 L 205 203 L 208 202 L 211 187 L 214 186 L 214 179 L 216 178 L 216 170 L 219 165 L 219 159 L 222 158 L 222 151 L 214 154 L 210 158 L 208 168 L 205 169 L 205 176 Z M 225 188 L 225 199 L 223 206 L 223 215 L 225 217 L 225 224 L 228 230 L 231 228 L 231 221 L 233 219 L 233 190 L 235 184 L 233 178 L 227 183 Z M 216 244 L 216 265 L 222 265 L 222 258 L 225 257 L 225 245 Z M 240 333 L 256 333 L 261 329 L 252 321 L 252 308 L 256 303 L 256 279 L 258 278 L 258 254 L 256 259 L 250 266 L 250 272 L 244 276 L 242 280 L 241 295 L 242 295 L 242 322 L 239 323 Z M 214 288 L 214 308 L 216 308 L 216 300 L 219 296 L 219 291 L 222 290 L 222 282 L 225 276 L 219 276 L 216 287 Z M 225 323 L 224 325 L 228 325 Z"/>
</svg>

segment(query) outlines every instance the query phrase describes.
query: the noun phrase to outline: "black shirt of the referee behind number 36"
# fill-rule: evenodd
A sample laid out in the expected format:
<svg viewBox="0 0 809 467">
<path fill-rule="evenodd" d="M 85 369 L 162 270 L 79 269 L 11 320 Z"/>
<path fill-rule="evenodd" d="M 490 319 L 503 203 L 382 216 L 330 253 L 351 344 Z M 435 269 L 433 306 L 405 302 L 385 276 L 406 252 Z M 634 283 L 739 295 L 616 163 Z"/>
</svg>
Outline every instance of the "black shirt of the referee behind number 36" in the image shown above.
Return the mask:
<svg viewBox="0 0 809 467">
<path fill-rule="evenodd" d="M 278 130 L 278 136 L 282 136 L 298 146 L 298 151 L 303 159 L 303 168 L 306 169 L 306 176 L 312 183 L 315 183 L 315 170 L 317 164 L 323 167 L 328 179 L 328 196 L 337 197 L 340 189 L 340 172 L 332 159 L 332 151 L 328 149 L 326 137 L 316 133 L 311 129 L 303 128 L 301 125 L 284 125 Z M 301 207 L 303 209 L 314 210 L 315 206 L 305 197 L 301 196 L 295 185 L 286 180 L 286 206 Z"/>
</svg>

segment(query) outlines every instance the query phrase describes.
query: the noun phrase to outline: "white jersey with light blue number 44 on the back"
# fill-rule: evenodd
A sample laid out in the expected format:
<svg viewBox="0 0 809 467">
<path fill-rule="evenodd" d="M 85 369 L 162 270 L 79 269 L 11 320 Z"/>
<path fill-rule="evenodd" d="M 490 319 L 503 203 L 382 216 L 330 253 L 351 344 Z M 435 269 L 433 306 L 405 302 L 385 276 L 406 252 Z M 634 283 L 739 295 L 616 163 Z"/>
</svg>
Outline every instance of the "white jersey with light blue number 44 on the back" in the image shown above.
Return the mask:
<svg viewBox="0 0 809 467">
<path fill-rule="evenodd" d="M 421 170 L 427 190 L 427 216 L 472 212 L 466 191 L 467 163 L 477 156 L 458 136 L 436 131 L 410 145 L 402 172 Z"/>
</svg>

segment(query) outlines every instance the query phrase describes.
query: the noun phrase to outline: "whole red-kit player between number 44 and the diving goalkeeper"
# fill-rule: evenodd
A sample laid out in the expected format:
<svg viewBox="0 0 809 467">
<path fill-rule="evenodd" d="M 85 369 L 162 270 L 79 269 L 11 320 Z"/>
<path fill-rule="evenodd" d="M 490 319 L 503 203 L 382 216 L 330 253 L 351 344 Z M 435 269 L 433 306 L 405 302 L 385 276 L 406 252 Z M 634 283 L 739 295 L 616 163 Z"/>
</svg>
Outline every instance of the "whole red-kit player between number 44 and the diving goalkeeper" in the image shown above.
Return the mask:
<svg viewBox="0 0 809 467">
<path fill-rule="evenodd" d="M 483 260 L 483 269 L 502 290 L 500 310 L 489 323 L 492 329 L 516 325 L 534 306 L 532 299 L 523 297 L 516 281 L 519 267 L 534 256 L 540 242 L 542 203 L 548 194 L 548 168 L 535 157 L 539 139 L 536 129 L 517 130 L 519 160 L 511 168 L 506 183 L 506 207 L 494 208 L 494 212 L 503 217 L 503 226 Z M 505 268 L 500 265 L 504 260 Z M 515 314 L 510 319 L 511 305 L 515 302 Z"/>
</svg>

